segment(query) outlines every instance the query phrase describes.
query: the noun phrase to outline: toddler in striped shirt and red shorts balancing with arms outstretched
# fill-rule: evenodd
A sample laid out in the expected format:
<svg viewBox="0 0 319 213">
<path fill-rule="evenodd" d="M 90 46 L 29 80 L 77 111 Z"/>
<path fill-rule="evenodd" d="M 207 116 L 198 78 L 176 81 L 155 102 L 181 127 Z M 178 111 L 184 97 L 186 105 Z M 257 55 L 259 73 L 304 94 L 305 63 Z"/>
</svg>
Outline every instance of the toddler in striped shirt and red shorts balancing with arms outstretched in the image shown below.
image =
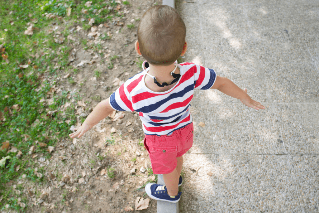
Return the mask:
<svg viewBox="0 0 319 213">
<path fill-rule="evenodd" d="M 81 137 L 112 111 L 137 111 L 143 123 L 144 145 L 154 174 L 163 174 L 165 185 L 147 184 L 146 193 L 156 200 L 178 202 L 182 184 L 183 154 L 193 144 L 190 101 L 194 89 L 218 89 L 256 110 L 264 109 L 231 80 L 193 63 L 175 64 L 187 50 L 186 27 L 178 12 L 167 5 L 147 10 L 138 26 L 135 43 L 143 56 L 143 72 L 127 80 L 108 99 L 100 102 L 74 128 L 71 138 Z M 145 69 L 146 68 L 146 69 Z"/>
</svg>

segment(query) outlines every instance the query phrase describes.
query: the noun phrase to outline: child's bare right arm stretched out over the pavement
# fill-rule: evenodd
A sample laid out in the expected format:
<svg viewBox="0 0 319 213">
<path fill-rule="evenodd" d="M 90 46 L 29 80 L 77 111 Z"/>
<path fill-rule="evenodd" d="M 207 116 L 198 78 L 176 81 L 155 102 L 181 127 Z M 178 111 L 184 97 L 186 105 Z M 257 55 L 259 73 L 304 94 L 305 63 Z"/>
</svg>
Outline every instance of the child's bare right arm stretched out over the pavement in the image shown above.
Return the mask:
<svg viewBox="0 0 319 213">
<path fill-rule="evenodd" d="M 220 77 L 217 75 L 215 83 L 211 87 L 211 89 L 218 89 L 220 92 L 225 93 L 226 95 L 238 98 L 241 101 L 241 103 L 256 110 L 265 109 L 265 107 L 261 103 L 256 102 L 250 98 L 250 96 L 247 94 L 246 88 L 242 90 L 236 84 L 234 84 L 233 81 L 227 78 Z"/>
</svg>

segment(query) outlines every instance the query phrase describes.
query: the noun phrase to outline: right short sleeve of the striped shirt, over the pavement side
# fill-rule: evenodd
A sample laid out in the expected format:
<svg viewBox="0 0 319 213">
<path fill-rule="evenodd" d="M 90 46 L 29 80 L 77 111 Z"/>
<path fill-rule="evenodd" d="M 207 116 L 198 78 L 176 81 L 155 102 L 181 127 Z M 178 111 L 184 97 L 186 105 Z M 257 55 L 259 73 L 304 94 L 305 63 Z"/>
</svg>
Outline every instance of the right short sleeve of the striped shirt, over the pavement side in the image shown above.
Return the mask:
<svg viewBox="0 0 319 213">
<path fill-rule="evenodd" d="M 216 72 L 200 65 L 196 65 L 194 71 L 195 89 L 209 89 L 213 86 L 216 80 Z"/>
</svg>

